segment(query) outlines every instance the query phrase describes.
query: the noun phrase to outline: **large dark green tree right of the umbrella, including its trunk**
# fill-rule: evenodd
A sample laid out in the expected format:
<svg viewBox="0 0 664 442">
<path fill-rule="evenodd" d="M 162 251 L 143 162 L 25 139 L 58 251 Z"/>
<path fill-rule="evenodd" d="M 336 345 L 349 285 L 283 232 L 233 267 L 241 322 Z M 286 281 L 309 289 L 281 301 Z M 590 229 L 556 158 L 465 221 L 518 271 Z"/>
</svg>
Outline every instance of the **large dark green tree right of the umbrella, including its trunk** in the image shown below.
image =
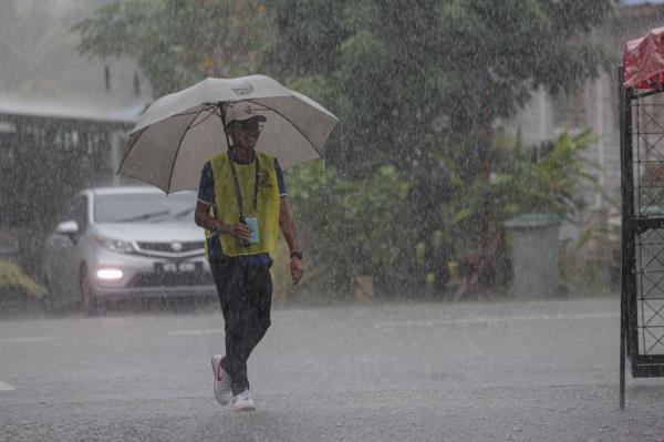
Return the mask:
<svg viewBox="0 0 664 442">
<path fill-rule="evenodd" d="M 502 155 L 496 123 L 513 115 L 535 86 L 569 91 L 598 73 L 608 56 L 582 34 L 611 1 L 326 3 L 267 2 L 276 38 L 264 69 L 290 84 L 322 85 L 314 97 L 332 103 L 343 122 L 329 148 L 341 176 L 369 176 L 385 164 L 411 176 L 411 224 L 422 241 L 447 232 L 450 202 L 478 198 L 464 248 L 477 251 L 483 284 L 505 280 L 502 226 L 489 192 Z M 305 27 L 290 25 L 293 10 Z M 315 30 L 338 43 L 315 45 Z"/>
</svg>

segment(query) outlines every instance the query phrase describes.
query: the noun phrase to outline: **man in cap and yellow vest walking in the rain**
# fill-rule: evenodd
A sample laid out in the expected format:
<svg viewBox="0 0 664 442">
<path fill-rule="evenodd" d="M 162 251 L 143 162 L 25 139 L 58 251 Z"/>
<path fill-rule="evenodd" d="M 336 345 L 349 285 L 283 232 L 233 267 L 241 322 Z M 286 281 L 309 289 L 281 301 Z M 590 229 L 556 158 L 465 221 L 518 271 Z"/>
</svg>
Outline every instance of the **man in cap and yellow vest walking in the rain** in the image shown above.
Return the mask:
<svg viewBox="0 0 664 442">
<path fill-rule="evenodd" d="M 290 249 L 293 284 L 303 274 L 281 168 L 277 158 L 255 150 L 266 121 L 249 103 L 227 110 L 225 130 L 232 146 L 205 164 L 195 214 L 196 224 L 206 229 L 225 321 L 226 356 L 212 357 L 215 397 L 221 404 L 231 401 L 238 411 L 255 409 L 247 360 L 270 326 L 270 254 L 279 230 Z"/>
</svg>

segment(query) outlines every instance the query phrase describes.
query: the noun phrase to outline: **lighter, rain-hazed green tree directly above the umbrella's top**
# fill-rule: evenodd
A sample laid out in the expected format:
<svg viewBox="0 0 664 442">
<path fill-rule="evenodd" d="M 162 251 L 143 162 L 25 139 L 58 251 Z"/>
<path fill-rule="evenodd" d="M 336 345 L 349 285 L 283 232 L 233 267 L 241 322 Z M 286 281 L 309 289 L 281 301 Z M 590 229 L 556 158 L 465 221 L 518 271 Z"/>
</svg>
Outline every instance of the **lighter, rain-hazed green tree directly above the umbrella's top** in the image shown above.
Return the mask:
<svg viewBox="0 0 664 442">
<path fill-rule="evenodd" d="M 80 51 L 138 63 L 154 94 L 251 71 L 269 27 L 259 0 L 116 0 L 75 24 Z"/>
</svg>

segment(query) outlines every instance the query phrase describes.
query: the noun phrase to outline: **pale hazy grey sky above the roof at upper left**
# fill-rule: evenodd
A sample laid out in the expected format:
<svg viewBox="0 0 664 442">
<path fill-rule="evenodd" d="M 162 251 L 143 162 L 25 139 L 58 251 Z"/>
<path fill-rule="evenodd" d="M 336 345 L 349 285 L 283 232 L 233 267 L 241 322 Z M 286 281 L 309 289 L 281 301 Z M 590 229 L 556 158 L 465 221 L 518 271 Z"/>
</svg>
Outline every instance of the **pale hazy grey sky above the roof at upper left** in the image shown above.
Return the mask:
<svg viewBox="0 0 664 442">
<path fill-rule="evenodd" d="M 149 100 L 138 69 L 131 60 L 102 61 L 77 53 L 80 35 L 71 27 L 107 0 L 0 0 L 0 102 L 14 99 L 134 107 Z M 11 7 L 13 4 L 13 8 Z M 111 90 L 105 86 L 108 66 Z"/>
</svg>

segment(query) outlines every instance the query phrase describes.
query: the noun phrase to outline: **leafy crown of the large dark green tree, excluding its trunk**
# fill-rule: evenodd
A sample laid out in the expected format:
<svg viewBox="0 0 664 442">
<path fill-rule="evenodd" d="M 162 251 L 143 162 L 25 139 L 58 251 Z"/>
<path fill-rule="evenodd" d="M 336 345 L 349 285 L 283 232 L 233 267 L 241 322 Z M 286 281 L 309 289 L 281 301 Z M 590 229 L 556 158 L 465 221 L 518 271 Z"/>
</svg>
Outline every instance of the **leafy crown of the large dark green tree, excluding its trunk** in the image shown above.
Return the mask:
<svg viewBox="0 0 664 442">
<path fill-rule="evenodd" d="M 609 0 L 333 3 L 269 0 L 276 37 L 263 68 L 289 80 L 330 78 L 334 107 L 352 138 L 342 140 L 331 160 L 360 174 L 376 155 L 409 169 L 421 156 L 412 146 L 430 151 L 442 145 L 442 134 L 456 140 L 480 131 L 474 158 L 461 155 L 488 175 L 496 119 L 512 115 L 533 85 L 569 89 L 596 73 L 602 50 L 572 37 L 611 7 Z M 295 27 L 295 20 L 305 24 Z M 326 44 L 319 44 L 324 37 Z"/>
</svg>

